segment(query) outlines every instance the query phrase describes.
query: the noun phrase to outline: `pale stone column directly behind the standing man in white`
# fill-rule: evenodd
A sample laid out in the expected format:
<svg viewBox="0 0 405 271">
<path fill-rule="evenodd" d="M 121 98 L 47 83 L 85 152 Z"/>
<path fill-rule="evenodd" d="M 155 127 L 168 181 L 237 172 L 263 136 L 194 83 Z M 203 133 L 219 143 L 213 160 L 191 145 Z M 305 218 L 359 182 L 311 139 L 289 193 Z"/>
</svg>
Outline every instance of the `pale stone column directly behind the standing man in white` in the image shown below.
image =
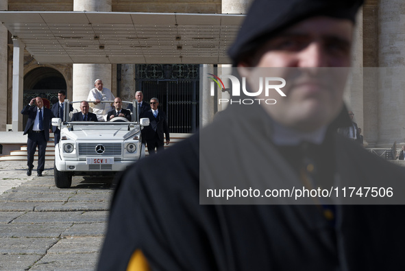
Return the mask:
<svg viewBox="0 0 405 271">
<path fill-rule="evenodd" d="M 74 11 L 110 12 L 112 0 L 74 0 Z M 111 64 L 73 64 L 74 101 L 87 99 L 88 92 L 94 88 L 96 79 L 103 80 L 104 87 L 112 91 Z M 116 93 L 113 92 L 115 95 Z M 73 107 L 79 108 L 79 104 Z"/>
</svg>

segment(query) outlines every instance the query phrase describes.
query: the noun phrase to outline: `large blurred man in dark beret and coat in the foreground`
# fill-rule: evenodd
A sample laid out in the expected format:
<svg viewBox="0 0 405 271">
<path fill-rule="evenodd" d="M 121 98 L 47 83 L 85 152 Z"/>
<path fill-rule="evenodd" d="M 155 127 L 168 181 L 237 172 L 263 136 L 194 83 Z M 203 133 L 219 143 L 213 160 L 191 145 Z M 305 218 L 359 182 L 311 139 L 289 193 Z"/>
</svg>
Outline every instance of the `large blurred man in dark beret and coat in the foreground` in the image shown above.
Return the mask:
<svg viewBox="0 0 405 271">
<path fill-rule="evenodd" d="M 123 174 L 99 270 L 140 262 L 151 270 L 405 268 L 402 206 L 317 193 L 405 176 L 336 133 L 350 125 L 343 89 L 361 4 L 254 1 L 230 49 L 249 93 L 232 98 L 249 102 L 258 92 L 262 103 L 228 106 L 199 134 Z M 267 82 L 282 89 L 260 93 L 267 76 L 285 87 Z M 305 189 L 316 194 L 299 197 Z"/>
</svg>

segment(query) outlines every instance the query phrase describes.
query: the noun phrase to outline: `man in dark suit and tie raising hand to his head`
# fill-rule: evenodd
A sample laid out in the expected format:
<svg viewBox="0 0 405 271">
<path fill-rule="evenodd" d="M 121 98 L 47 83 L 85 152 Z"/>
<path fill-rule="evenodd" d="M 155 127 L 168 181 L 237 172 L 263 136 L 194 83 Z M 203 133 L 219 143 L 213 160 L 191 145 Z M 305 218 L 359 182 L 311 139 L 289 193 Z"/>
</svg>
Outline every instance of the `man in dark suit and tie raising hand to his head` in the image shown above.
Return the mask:
<svg viewBox="0 0 405 271">
<path fill-rule="evenodd" d="M 35 106 L 34 106 L 35 104 Z M 27 176 L 31 176 L 34 168 L 34 154 L 38 146 L 38 167 L 36 172 L 42 176 L 45 168 L 45 151 L 49 141 L 49 132 L 51 131 L 51 119 L 55 117 L 52 111 L 44 107 L 42 99 L 36 97 L 21 110 L 21 114 L 28 115 L 27 125 L 24 134 L 28 134 L 27 141 Z"/>
</svg>

